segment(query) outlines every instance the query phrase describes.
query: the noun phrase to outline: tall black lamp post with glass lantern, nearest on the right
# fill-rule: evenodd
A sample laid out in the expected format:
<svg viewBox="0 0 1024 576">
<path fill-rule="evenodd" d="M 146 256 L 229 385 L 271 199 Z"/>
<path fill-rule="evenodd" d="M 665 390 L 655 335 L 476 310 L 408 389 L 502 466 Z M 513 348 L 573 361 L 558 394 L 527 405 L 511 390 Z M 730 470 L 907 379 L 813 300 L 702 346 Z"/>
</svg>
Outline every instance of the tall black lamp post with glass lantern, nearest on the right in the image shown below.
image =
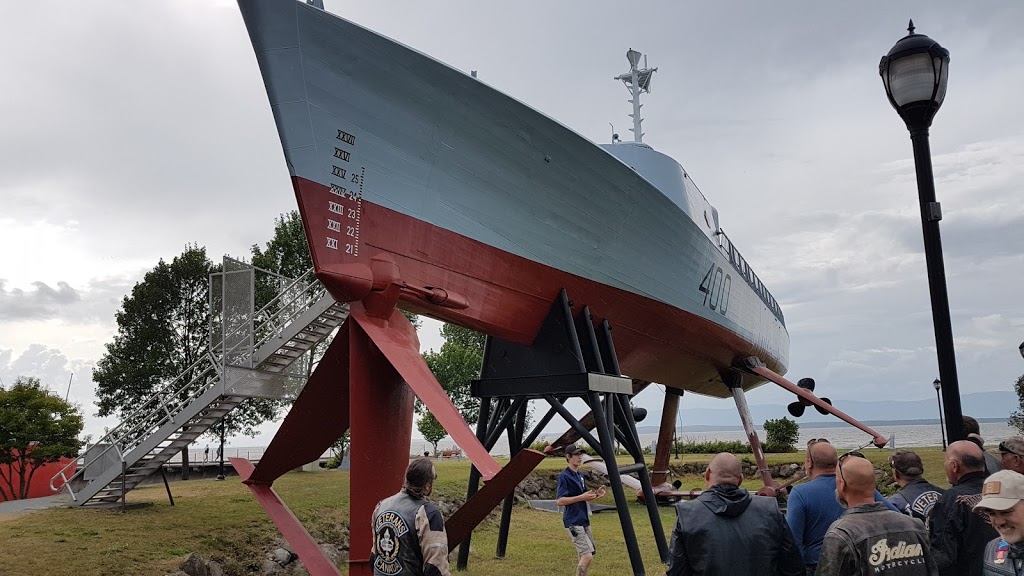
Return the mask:
<svg viewBox="0 0 1024 576">
<path fill-rule="evenodd" d="M 913 20 L 910 20 L 907 31 L 909 34 L 896 42 L 888 54 L 882 56 L 879 74 L 882 75 L 889 104 L 906 123 L 913 143 L 921 223 L 925 236 L 925 261 L 928 264 L 928 287 L 932 298 L 932 323 L 935 326 L 935 348 L 939 361 L 939 378 L 942 380 L 942 400 L 945 404 L 946 437 L 949 442 L 956 442 L 964 440 L 964 416 L 956 379 L 946 273 L 942 263 L 942 239 L 939 236 L 942 210 L 935 201 L 932 153 L 928 143 L 928 129 L 946 95 L 949 51 L 931 38 L 914 34 Z"/>
</svg>

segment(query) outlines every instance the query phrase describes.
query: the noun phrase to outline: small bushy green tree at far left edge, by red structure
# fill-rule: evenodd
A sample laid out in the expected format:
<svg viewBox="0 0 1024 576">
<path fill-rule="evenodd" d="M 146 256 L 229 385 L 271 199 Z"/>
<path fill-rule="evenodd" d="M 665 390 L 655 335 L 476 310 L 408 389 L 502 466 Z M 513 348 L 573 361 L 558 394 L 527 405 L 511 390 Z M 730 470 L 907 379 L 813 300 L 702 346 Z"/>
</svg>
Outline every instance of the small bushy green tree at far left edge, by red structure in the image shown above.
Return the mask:
<svg viewBox="0 0 1024 576">
<path fill-rule="evenodd" d="M 78 455 L 83 425 L 78 408 L 39 378 L 18 376 L 10 389 L 0 387 L 0 496 L 28 498 L 39 466 Z"/>
</svg>

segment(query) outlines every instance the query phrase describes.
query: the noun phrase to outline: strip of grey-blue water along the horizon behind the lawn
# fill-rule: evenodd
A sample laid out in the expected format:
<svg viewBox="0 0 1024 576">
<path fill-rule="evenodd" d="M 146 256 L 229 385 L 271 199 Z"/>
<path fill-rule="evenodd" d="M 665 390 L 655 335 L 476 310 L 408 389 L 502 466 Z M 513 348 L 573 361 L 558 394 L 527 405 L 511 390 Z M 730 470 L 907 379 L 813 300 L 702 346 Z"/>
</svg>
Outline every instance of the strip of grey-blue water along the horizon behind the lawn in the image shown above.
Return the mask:
<svg viewBox="0 0 1024 576">
<path fill-rule="evenodd" d="M 813 424 L 808 424 L 806 427 L 801 426 L 800 428 L 800 441 L 797 444 L 798 447 L 804 446 L 808 440 L 812 438 L 827 438 L 836 448 L 843 449 L 853 449 L 860 448 L 868 444 L 871 439 L 861 430 L 853 426 L 839 426 L 839 427 L 810 427 Z M 1010 425 L 1002 422 L 982 422 L 981 424 L 981 436 L 985 439 L 986 446 L 989 446 L 989 451 L 994 451 L 994 446 L 999 442 L 1012 437 L 1020 436 L 1020 433 L 1011 427 Z M 942 446 L 942 435 L 939 429 L 939 424 L 899 424 L 899 425 L 879 425 L 871 426 L 882 436 L 889 438 L 891 435 L 895 435 L 895 447 L 896 448 L 908 448 L 911 446 Z M 547 442 L 553 442 L 556 440 L 559 434 L 545 434 L 539 437 L 539 440 L 545 440 Z M 764 431 L 758 428 L 758 438 L 764 441 Z M 746 435 L 743 434 L 741 429 L 726 429 L 726 430 L 705 430 L 697 433 L 684 433 L 681 439 L 685 442 L 710 442 L 715 440 L 730 441 L 736 440 L 739 442 L 746 442 Z M 653 443 L 657 441 L 656 434 L 642 434 L 640 435 L 640 443 L 643 446 L 653 446 Z M 449 439 L 442 440 L 437 445 L 438 450 L 447 450 L 456 448 L 454 442 Z M 652 448 L 653 449 L 653 448 Z M 263 455 L 263 451 L 266 450 L 265 446 L 240 446 L 238 448 L 228 446 L 224 449 L 224 458 L 239 457 L 248 458 L 250 460 L 259 460 Z M 413 439 L 412 454 L 423 454 L 431 450 L 430 444 L 422 439 Z M 507 456 L 509 454 L 509 445 L 506 438 L 498 441 L 495 445 L 494 450 L 490 451 L 495 456 Z M 188 451 L 189 459 L 193 462 L 203 461 L 203 449 L 191 449 Z M 325 453 L 325 457 L 330 456 L 330 453 Z M 180 461 L 180 455 L 176 455 L 171 458 L 172 462 Z M 210 461 L 217 461 L 216 446 L 210 446 Z"/>
</svg>

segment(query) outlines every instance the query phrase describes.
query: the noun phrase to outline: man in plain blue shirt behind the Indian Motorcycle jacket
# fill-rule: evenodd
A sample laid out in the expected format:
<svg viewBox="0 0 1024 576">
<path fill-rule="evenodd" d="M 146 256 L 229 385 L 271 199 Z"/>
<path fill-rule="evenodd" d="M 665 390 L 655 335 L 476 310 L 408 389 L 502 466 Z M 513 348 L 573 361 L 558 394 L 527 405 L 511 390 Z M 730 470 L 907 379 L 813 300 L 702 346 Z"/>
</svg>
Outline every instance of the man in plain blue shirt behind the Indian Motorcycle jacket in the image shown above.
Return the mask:
<svg viewBox="0 0 1024 576">
<path fill-rule="evenodd" d="M 786 506 L 785 520 L 790 523 L 809 575 L 814 574 L 825 532 L 844 511 L 843 506 L 836 501 L 838 458 L 836 448 L 827 440 L 815 439 L 808 442 L 804 467 L 811 481 L 793 489 Z M 874 499 L 885 502 L 890 509 L 899 511 L 878 490 L 874 491 Z"/>
</svg>

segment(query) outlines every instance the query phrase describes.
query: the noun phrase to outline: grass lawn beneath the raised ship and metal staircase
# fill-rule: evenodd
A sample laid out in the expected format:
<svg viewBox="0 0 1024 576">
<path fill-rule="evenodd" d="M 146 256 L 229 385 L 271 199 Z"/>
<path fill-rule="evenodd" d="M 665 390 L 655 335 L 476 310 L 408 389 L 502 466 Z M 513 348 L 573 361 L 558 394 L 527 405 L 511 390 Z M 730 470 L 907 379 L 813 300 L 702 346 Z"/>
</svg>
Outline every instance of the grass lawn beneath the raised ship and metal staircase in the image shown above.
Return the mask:
<svg viewBox="0 0 1024 576">
<path fill-rule="evenodd" d="M 915 450 L 925 463 L 925 476 L 947 486 L 939 448 Z M 889 450 L 863 451 L 877 466 L 888 469 Z M 802 462 L 803 452 L 769 454 L 769 464 Z M 686 455 L 683 461 L 707 462 L 709 455 Z M 623 459 L 622 462 L 626 462 Z M 564 459 L 547 458 L 542 470 L 559 470 Z M 435 490 L 464 497 L 469 476 L 467 461 L 437 465 Z M 690 475 L 684 487 L 702 488 L 702 479 Z M 748 481 L 749 487 L 759 483 Z M 336 470 L 291 472 L 274 488 L 317 540 L 340 538 L 348 521 L 348 474 Z M 258 571 L 265 553 L 275 547 L 276 529 L 249 490 L 237 478 L 224 482 L 200 480 L 171 485 L 175 506 L 170 506 L 163 485 L 150 485 L 128 494 L 129 510 L 53 508 L 0 522 L 0 574 L 10 576 L 161 575 L 178 569 L 191 551 L 213 558 L 227 575 Z M 628 493 L 629 494 L 629 493 Z M 612 504 L 610 490 L 603 503 Z M 652 538 L 646 508 L 630 506 L 648 574 L 663 571 Z M 675 520 L 673 508 L 660 508 L 667 537 Z M 618 517 L 614 511 L 592 519 L 598 554 L 591 574 L 631 573 Z M 560 516 L 516 507 L 512 515 L 507 556 L 495 558 L 498 523 L 481 525 L 473 534 L 469 570 L 464 574 L 571 573 L 575 552 L 562 528 Z M 347 570 L 342 566 L 342 572 Z"/>
</svg>

